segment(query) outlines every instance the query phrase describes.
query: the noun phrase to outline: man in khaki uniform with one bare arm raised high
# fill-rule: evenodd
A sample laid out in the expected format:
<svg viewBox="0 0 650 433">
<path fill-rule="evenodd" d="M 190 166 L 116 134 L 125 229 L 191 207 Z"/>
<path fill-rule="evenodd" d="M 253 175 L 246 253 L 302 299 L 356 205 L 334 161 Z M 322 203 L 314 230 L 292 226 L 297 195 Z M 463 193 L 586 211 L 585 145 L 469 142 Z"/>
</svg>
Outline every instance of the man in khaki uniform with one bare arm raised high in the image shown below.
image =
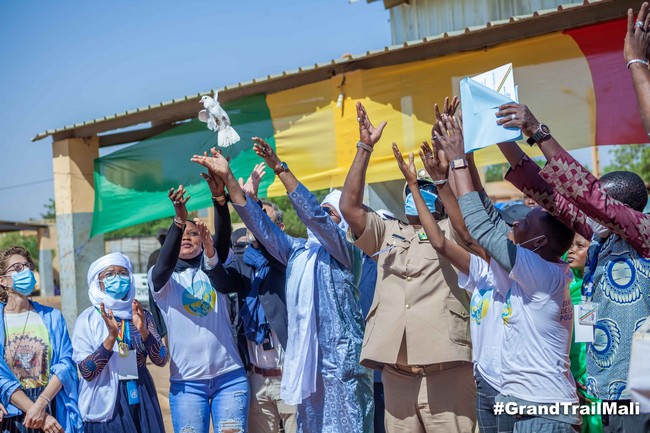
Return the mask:
<svg viewBox="0 0 650 433">
<path fill-rule="evenodd" d="M 386 124 L 374 128 L 360 103 L 357 115 L 361 139 L 343 187 L 341 212 L 355 245 L 377 260 L 361 364 L 382 369 L 388 433 L 472 432 L 476 388 L 467 295 L 417 216 L 408 215 L 409 224 L 383 221 L 363 206 L 370 154 Z M 424 183 L 420 189 L 427 189 Z M 439 225 L 451 234 L 448 219 Z"/>
</svg>

